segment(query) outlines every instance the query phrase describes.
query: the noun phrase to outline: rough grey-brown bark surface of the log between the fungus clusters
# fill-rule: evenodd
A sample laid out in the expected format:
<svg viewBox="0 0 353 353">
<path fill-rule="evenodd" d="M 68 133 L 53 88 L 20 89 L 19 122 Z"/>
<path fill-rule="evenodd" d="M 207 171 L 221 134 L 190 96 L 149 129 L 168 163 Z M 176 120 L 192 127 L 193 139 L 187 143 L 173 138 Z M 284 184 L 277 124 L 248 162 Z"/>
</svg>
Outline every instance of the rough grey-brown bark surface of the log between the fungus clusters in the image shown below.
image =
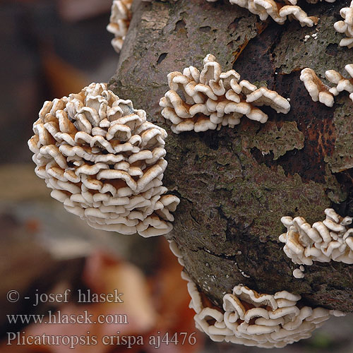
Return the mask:
<svg viewBox="0 0 353 353">
<path fill-rule="evenodd" d="M 342 35 L 333 28 L 349 1 L 299 2 L 309 16 L 320 17 L 316 27 L 264 22 L 222 0 L 135 1 L 109 83 L 169 133 L 164 184 L 181 204 L 168 237 L 179 244 L 186 271 L 218 306 L 243 283 L 269 294 L 286 289 L 312 306 L 353 311 L 353 265 L 314 263 L 296 279 L 298 266 L 278 241 L 284 215 L 311 224 L 323 220 L 328 207 L 353 215 L 352 102 L 344 94 L 333 108 L 312 102 L 299 80 L 307 66 L 324 78 L 326 69 L 343 73 L 352 63 L 352 50 L 337 45 Z M 304 42 L 316 32 L 317 40 Z M 264 109 L 266 124 L 244 118 L 235 128 L 172 133 L 158 106 L 168 90 L 167 73 L 190 65 L 201 69 L 208 53 L 223 71 L 234 68 L 241 79 L 289 97 L 289 114 Z"/>
</svg>

